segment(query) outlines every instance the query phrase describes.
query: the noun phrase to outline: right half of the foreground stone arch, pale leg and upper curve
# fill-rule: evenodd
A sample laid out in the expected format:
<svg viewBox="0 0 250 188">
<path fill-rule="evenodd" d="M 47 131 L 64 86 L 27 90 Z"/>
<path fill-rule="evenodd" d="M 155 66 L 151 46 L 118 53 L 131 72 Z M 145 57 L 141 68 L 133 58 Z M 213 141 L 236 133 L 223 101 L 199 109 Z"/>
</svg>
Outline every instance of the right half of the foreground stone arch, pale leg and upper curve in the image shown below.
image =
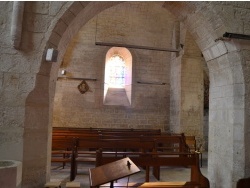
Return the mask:
<svg viewBox="0 0 250 188">
<path fill-rule="evenodd" d="M 225 24 L 223 15 L 227 14 L 227 10 L 215 12 L 222 7 L 207 3 L 166 2 L 164 7 L 183 20 L 209 68 L 208 176 L 211 187 L 235 187 L 236 181 L 246 175 L 244 168 L 247 161 L 244 155 L 240 155 L 246 153 L 243 102 L 246 86 L 242 72 L 244 61 L 237 52 L 240 49 L 232 45 L 232 41 L 215 42 L 223 32 L 231 30 L 231 25 Z"/>
</svg>

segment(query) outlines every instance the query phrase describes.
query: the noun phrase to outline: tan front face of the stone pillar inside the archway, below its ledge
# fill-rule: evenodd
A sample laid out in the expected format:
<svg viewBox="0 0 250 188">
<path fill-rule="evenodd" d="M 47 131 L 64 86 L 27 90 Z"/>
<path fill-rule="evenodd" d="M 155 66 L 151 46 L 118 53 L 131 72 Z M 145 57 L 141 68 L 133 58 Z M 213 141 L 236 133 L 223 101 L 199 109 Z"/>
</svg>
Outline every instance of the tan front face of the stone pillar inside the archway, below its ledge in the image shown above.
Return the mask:
<svg viewBox="0 0 250 188">
<path fill-rule="evenodd" d="M 183 56 L 181 66 L 180 131 L 195 135 L 203 145 L 203 63 L 201 58 Z"/>
</svg>

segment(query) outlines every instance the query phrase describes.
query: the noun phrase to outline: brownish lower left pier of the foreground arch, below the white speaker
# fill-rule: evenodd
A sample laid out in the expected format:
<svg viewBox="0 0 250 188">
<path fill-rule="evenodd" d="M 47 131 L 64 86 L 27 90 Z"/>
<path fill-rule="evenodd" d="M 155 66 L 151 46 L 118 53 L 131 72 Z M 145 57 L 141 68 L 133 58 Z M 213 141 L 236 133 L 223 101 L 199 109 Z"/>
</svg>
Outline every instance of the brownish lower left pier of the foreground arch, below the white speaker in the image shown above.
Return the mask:
<svg viewBox="0 0 250 188">
<path fill-rule="evenodd" d="M 50 177 L 52 105 L 49 77 L 38 74 L 36 78 L 36 87 L 26 100 L 22 188 L 42 187 Z"/>
</svg>

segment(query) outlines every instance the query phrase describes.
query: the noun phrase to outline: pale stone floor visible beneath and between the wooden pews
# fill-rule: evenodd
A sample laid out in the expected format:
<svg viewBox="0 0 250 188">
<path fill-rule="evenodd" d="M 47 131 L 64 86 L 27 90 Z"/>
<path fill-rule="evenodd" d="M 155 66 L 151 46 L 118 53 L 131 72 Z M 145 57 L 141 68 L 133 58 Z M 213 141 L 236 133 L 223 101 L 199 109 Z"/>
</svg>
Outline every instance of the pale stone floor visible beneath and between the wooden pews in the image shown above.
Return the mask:
<svg viewBox="0 0 250 188">
<path fill-rule="evenodd" d="M 201 167 L 201 172 L 207 177 L 207 153 L 203 153 L 203 165 Z M 80 164 L 78 167 L 78 173 L 74 181 L 80 182 L 81 188 L 89 187 L 89 168 L 94 168 L 93 164 Z M 123 178 L 118 180 L 118 182 L 144 182 L 145 171 L 141 169 L 141 172 L 131 175 L 129 178 Z M 69 182 L 69 172 L 70 167 L 67 165 L 64 169 L 59 163 L 52 164 L 51 166 L 51 181 L 61 181 L 62 188 L 65 188 L 66 182 Z M 160 181 L 189 181 L 190 180 L 190 168 L 161 168 L 161 179 Z M 152 175 L 150 175 L 150 181 L 157 181 Z"/>
</svg>

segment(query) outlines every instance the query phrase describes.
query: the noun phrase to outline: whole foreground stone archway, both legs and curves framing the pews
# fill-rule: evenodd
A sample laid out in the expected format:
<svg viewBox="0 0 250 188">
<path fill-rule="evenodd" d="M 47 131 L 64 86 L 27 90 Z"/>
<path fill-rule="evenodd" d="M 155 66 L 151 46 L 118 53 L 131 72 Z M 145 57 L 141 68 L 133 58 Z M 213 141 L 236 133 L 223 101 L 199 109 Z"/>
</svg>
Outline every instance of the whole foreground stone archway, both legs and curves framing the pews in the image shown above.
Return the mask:
<svg viewBox="0 0 250 188">
<path fill-rule="evenodd" d="M 58 59 L 60 61 L 67 48 L 67 44 L 74 34 L 94 15 L 115 4 L 117 3 L 88 2 L 85 6 L 81 4 L 78 7 L 79 2 L 73 3 L 65 11 L 61 19 L 68 13 L 67 11 L 74 7 L 77 7 L 78 14 L 68 26 L 65 26 L 60 19 L 57 21 L 54 30 L 50 33 L 47 47 L 54 47 L 59 50 Z M 211 79 L 209 120 L 209 179 L 211 187 L 234 187 L 237 179 L 246 175 L 244 171 L 245 156 L 242 158 L 239 155 L 239 153 L 245 153 L 244 129 L 246 129 L 245 119 L 248 119 L 244 114 L 244 97 L 246 91 L 241 67 L 242 54 L 235 52 L 238 49 L 234 48 L 234 46 L 230 48 L 233 50 L 230 50 L 229 45 L 226 43 L 221 41 L 214 42 L 222 33 L 213 31 L 216 24 L 212 21 L 217 19 L 217 14 L 209 14 L 214 10 L 212 4 L 206 2 L 167 2 L 164 7 L 172 11 L 175 16 L 187 25 L 188 30 L 196 40 L 208 62 Z M 193 20 L 196 20 L 196 22 L 193 22 Z M 218 22 L 220 22 L 218 24 L 221 27 L 225 27 L 220 17 L 218 18 Z M 58 32 L 61 33 L 60 36 Z M 232 55 L 234 55 L 233 57 L 238 57 L 238 59 L 230 59 Z M 29 117 L 36 114 L 37 120 L 41 120 L 42 124 L 44 123 L 44 127 L 41 125 L 40 130 L 44 131 L 41 140 L 45 140 L 46 144 L 42 151 L 41 148 L 36 148 L 35 145 L 27 147 L 25 140 L 29 142 L 36 137 L 35 135 L 28 134 L 28 129 L 25 130 L 28 136 L 24 138 L 24 153 L 26 150 L 32 152 L 29 152 L 29 156 L 24 155 L 24 161 L 27 160 L 27 163 L 24 163 L 24 187 L 42 185 L 45 180 L 41 179 L 40 176 L 49 174 L 48 164 L 50 164 L 50 156 L 48 155 L 48 151 L 50 148 L 50 136 L 48 137 L 48 135 L 51 133 L 51 99 L 54 96 L 54 85 L 58 69 L 58 64 L 48 65 L 42 63 L 40 70 L 41 72 L 45 70 L 46 76 L 44 74 L 37 75 L 36 88 L 26 101 L 25 126 L 29 124 Z M 39 104 L 41 108 L 38 108 L 36 96 L 40 96 L 41 93 L 43 93 L 43 100 Z M 238 117 L 242 117 L 243 120 Z M 47 125 L 49 125 L 49 128 Z M 239 137 L 241 135 L 242 137 Z M 46 155 L 46 157 L 42 158 L 43 161 L 39 165 L 32 166 L 36 162 L 38 151 L 40 155 Z M 221 153 L 221 151 L 224 151 L 224 153 Z M 219 167 L 218 164 L 223 166 L 223 168 L 217 168 Z M 35 183 L 29 184 L 32 181 Z"/>
</svg>

